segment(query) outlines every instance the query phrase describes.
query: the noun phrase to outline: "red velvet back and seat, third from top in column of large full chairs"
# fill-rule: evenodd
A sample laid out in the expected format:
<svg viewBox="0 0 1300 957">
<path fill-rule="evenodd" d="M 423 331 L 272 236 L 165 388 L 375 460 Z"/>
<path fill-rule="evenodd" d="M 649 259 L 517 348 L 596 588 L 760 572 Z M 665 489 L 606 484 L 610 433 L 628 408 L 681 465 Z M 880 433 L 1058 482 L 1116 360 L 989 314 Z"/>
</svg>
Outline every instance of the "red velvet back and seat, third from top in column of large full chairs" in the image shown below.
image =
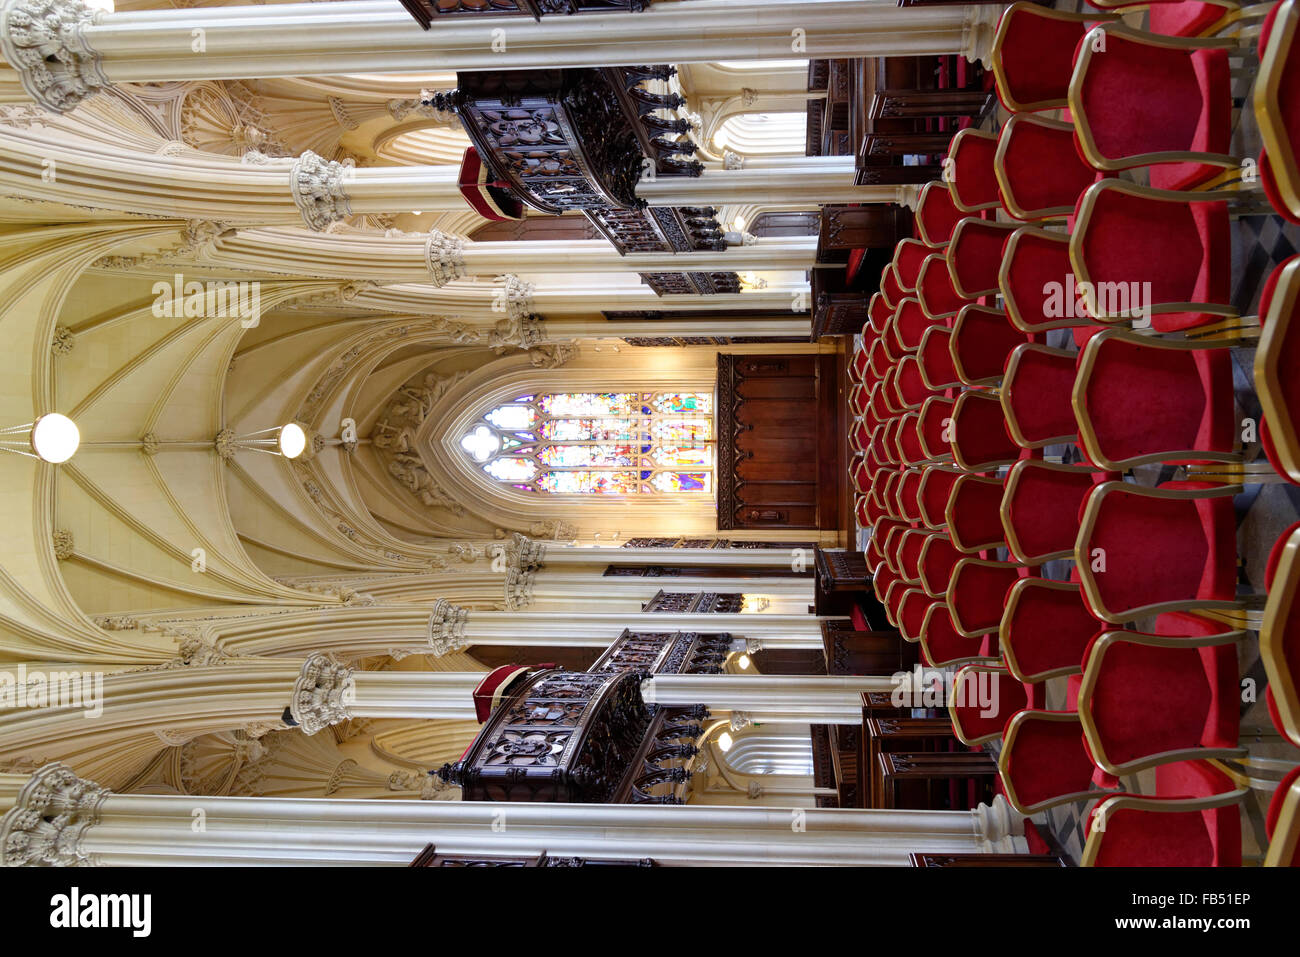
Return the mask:
<svg viewBox="0 0 1300 957">
<path fill-rule="evenodd" d="M 1232 451 L 1236 416 L 1226 348 L 1186 351 L 1122 339 L 1096 347 L 1084 402 L 1106 458 Z"/>
</svg>

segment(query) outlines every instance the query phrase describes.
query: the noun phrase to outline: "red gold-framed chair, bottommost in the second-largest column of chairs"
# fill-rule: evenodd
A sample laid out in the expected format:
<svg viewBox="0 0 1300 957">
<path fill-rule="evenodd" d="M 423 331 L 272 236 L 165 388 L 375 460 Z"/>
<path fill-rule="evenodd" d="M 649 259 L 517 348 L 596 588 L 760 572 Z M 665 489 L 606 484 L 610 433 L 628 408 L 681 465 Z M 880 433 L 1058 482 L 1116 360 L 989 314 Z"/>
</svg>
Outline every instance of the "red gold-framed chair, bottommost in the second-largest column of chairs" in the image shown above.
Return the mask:
<svg viewBox="0 0 1300 957">
<path fill-rule="evenodd" d="M 1072 711 L 1023 710 L 1002 732 L 997 768 L 1006 800 L 1020 814 L 1037 814 L 1114 792 L 1093 785 L 1093 765 Z"/>
</svg>

